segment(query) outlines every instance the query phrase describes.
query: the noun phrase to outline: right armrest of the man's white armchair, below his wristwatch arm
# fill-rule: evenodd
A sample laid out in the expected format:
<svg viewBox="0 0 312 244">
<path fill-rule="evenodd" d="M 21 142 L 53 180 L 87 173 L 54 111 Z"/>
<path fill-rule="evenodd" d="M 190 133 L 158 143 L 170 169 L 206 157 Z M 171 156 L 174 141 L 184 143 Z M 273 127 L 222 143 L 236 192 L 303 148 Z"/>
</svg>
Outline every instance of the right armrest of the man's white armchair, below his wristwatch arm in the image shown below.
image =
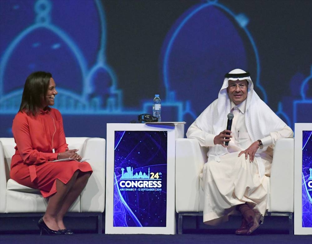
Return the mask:
<svg viewBox="0 0 312 244">
<path fill-rule="evenodd" d="M 270 211 L 294 212 L 294 138 L 279 139 L 274 147 Z"/>
</svg>

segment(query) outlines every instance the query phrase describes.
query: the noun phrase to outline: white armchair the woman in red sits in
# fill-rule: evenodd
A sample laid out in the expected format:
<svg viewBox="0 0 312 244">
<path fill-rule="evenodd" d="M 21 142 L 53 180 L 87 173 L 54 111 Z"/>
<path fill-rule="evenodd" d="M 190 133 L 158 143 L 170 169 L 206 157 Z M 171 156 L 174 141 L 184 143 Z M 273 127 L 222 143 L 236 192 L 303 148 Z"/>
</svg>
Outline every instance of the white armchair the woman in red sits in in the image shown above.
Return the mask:
<svg viewBox="0 0 312 244">
<path fill-rule="evenodd" d="M 93 173 L 69 209 L 67 216 L 97 216 L 98 233 L 102 233 L 102 213 L 105 206 L 105 139 L 66 137 L 69 149 L 79 149 L 87 158 Z M 47 201 L 38 189 L 29 188 L 10 179 L 11 158 L 15 153 L 14 138 L 0 138 L 0 217 L 40 216 Z"/>
</svg>

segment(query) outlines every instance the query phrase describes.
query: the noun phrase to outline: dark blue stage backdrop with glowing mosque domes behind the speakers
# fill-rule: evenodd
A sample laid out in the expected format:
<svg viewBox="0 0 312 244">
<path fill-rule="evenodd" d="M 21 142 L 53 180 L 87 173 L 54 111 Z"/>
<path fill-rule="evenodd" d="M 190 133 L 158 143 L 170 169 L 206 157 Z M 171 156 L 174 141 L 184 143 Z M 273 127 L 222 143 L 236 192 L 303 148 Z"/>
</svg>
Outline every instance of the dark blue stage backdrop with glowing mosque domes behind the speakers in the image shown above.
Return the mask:
<svg viewBox="0 0 312 244">
<path fill-rule="evenodd" d="M 52 73 L 66 136 L 106 138 L 162 99 L 186 129 L 224 74 L 251 72 L 290 127 L 312 121 L 312 1 L 0 1 L 1 137 L 12 137 L 26 77 Z"/>
</svg>

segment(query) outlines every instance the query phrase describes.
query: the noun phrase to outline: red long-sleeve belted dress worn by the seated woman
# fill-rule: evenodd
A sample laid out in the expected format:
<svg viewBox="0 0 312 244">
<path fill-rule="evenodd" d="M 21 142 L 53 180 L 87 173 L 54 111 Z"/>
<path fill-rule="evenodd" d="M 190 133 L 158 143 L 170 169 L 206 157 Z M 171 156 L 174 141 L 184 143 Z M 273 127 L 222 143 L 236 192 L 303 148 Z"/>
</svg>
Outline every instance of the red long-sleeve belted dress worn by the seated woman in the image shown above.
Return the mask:
<svg viewBox="0 0 312 244">
<path fill-rule="evenodd" d="M 43 197 L 57 192 L 56 179 L 67 184 L 77 170 L 92 173 L 87 162 L 49 162 L 56 160 L 58 153 L 65 152 L 68 146 L 62 116 L 57 109 L 41 110 L 37 116 L 18 112 L 12 132 L 16 151 L 11 161 L 10 177 L 19 184 L 39 189 Z"/>
</svg>

